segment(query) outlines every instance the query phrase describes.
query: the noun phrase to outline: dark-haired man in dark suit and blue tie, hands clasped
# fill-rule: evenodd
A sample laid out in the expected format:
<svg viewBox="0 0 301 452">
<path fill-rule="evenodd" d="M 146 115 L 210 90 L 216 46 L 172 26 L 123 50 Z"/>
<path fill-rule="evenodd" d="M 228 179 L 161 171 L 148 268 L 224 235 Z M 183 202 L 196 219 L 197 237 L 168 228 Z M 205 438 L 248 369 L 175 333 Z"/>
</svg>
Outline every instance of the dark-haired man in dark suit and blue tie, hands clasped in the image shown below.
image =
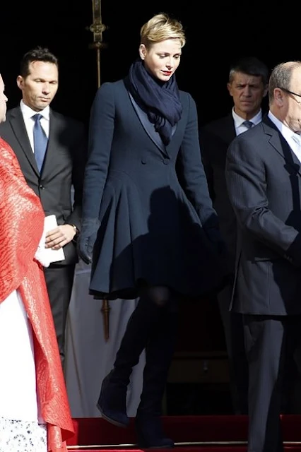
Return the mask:
<svg viewBox="0 0 301 452">
<path fill-rule="evenodd" d="M 16 153 L 45 215 L 57 219 L 57 226 L 46 234 L 46 246 L 62 248 L 64 260 L 45 268 L 45 277 L 64 366 L 66 316 L 78 261 L 75 239 L 81 228 L 85 130 L 79 121 L 49 107 L 58 88 L 58 61 L 48 49 L 37 47 L 24 55 L 17 84 L 22 100 L 18 107 L 8 110 L 0 136 Z"/>
</svg>

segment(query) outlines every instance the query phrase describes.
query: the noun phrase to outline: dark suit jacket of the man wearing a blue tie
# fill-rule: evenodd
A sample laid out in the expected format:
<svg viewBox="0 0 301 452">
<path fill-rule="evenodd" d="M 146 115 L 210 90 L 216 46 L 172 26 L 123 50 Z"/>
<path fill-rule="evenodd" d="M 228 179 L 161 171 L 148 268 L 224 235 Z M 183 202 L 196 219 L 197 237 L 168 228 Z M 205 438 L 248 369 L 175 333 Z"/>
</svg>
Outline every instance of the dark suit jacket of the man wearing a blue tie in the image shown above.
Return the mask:
<svg viewBox="0 0 301 452">
<path fill-rule="evenodd" d="M 6 121 L 0 124 L 0 136 L 16 153 L 28 185 L 40 197 L 45 215 L 54 214 L 59 225 L 68 223 L 80 230 L 87 146 L 83 124 L 50 109 L 49 141 L 41 174 L 37 169 L 20 107 L 8 110 Z M 64 254 L 65 260 L 59 264 L 77 261 L 74 242 L 64 246 Z"/>
</svg>

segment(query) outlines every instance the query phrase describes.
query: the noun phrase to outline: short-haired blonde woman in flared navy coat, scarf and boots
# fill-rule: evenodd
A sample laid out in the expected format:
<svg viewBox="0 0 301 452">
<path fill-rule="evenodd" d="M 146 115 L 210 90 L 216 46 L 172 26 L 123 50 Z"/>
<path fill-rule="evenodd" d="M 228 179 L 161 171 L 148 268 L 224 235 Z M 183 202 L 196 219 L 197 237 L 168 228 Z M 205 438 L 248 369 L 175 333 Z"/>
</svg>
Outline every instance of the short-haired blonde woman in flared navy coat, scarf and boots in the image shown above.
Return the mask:
<svg viewBox="0 0 301 452">
<path fill-rule="evenodd" d="M 148 20 L 139 59 L 125 79 L 99 88 L 90 114 L 78 252 L 92 261 L 95 297 L 140 297 L 114 369 L 102 381 L 98 408 L 109 422 L 129 424 L 126 388 L 146 349 L 136 414 L 138 445 L 144 448 L 174 446 L 163 434 L 160 414 L 177 302 L 210 292 L 223 276 L 196 105 L 175 80 L 184 44 L 177 20 L 165 13 Z"/>
</svg>

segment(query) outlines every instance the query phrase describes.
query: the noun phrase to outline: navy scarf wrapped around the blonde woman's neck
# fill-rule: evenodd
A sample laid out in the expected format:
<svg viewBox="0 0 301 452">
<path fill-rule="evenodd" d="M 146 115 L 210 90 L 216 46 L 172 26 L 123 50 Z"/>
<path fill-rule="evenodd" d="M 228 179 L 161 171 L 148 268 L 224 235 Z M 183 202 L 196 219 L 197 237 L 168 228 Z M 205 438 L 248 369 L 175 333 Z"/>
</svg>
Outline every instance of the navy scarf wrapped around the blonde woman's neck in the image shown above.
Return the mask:
<svg viewBox="0 0 301 452">
<path fill-rule="evenodd" d="M 165 145 L 170 143 L 172 127 L 177 124 L 182 114 L 175 74 L 169 81 L 161 82 L 151 76 L 141 59 L 138 59 L 129 69 L 126 88 L 138 106 L 146 112 L 163 143 Z"/>
</svg>

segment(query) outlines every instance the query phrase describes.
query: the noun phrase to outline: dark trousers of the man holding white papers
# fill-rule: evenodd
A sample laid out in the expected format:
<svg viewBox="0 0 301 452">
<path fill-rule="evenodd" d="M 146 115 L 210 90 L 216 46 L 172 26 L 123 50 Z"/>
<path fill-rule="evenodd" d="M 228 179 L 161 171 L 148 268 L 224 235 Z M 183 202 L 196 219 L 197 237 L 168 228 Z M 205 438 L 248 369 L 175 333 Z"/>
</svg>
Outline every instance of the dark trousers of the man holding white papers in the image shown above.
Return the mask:
<svg viewBox="0 0 301 452">
<path fill-rule="evenodd" d="M 75 264 L 71 266 L 55 266 L 44 268 L 47 292 L 52 309 L 54 328 L 57 334 L 61 364 L 64 369 L 65 360 L 65 328 L 71 299 Z"/>
</svg>

